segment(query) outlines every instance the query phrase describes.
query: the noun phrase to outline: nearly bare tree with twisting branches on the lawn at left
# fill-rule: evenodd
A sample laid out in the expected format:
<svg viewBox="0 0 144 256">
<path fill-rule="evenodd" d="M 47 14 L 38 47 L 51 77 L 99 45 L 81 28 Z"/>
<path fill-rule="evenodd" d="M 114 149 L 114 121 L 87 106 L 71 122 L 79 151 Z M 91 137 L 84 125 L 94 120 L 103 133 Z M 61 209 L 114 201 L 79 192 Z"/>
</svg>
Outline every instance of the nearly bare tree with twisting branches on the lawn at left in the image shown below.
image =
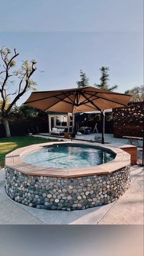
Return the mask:
<svg viewBox="0 0 144 256">
<path fill-rule="evenodd" d="M 36 85 L 36 82 L 31 79 L 31 76 L 37 68 L 35 67 L 35 60 L 31 60 L 31 62 L 26 60 L 18 70 L 13 70 L 16 65 L 15 59 L 19 55 L 19 53 L 16 52 L 16 49 L 14 49 L 12 54 L 9 48 L 2 46 L 0 48 L 0 54 L 2 62 L 0 65 L 0 112 L 2 122 L 5 126 L 6 136 L 10 137 L 11 135 L 8 121 L 9 113 L 15 105 L 16 101 L 18 101 L 27 90 L 35 89 L 34 86 Z M 9 92 L 9 89 L 12 89 L 13 77 L 16 78 L 16 82 L 18 81 L 18 89 L 11 93 Z M 15 95 L 12 96 L 14 97 L 12 101 L 10 101 L 11 95 Z M 9 102 L 9 104 L 7 104 L 7 102 Z"/>
</svg>

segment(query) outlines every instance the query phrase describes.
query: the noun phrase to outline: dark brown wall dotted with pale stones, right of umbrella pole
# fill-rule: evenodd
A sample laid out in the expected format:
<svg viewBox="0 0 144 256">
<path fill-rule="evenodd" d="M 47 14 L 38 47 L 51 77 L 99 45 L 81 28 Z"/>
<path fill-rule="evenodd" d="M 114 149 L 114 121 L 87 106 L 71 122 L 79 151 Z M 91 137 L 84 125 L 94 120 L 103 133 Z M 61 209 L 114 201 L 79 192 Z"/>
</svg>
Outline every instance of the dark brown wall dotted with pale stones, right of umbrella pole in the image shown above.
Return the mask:
<svg viewBox="0 0 144 256">
<path fill-rule="evenodd" d="M 114 137 L 143 137 L 144 102 L 113 109 Z"/>
</svg>

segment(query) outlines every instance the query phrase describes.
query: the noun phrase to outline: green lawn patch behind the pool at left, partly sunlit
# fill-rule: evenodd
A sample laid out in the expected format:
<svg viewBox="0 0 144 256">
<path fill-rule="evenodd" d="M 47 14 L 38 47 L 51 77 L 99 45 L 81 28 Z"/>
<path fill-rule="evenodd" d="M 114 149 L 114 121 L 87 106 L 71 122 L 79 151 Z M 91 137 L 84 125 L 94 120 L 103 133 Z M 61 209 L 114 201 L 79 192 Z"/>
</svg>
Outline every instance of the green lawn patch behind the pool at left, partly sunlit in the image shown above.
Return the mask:
<svg viewBox="0 0 144 256">
<path fill-rule="evenodd" d="M 12 152 L 16 148 L 26 147 L 28 145 L 49 142 L 51 139 L 45 139 L 43 137 L 10 137 L 0 139 L 0 168 L 4 167 L 5 155 Z M 53 140 L 54 141 L 54 140 Z"/>
</svg>

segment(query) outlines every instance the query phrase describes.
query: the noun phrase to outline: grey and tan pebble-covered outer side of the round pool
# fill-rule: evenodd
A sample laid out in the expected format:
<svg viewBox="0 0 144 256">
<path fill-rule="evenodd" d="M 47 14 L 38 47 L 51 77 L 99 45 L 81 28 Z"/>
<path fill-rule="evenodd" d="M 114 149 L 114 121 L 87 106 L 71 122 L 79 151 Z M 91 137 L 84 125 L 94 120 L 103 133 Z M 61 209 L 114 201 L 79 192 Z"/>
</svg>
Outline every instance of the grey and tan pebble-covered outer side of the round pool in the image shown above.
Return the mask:
<svg viewBox="0 0 144 256">
<path fill-rule="evenodd" d="M 77 178 L 29 176 L 5 167 L 5 192 L 18 203 L 46 210 L 84 210 L 117 200 L 128 189 L 130 166 Z"/>
</svg>

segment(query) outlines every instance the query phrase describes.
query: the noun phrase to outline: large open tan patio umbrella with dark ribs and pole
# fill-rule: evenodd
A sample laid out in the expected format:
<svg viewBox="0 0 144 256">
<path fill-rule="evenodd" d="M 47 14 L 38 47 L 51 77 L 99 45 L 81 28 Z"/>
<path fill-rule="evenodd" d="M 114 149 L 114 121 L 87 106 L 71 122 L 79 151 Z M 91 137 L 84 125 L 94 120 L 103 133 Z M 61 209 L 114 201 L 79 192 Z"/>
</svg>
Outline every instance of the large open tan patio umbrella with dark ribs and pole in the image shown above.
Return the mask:
<svg viewBox="0 0 144 256">
<path fill-rule="evenodd" d="M 29 104 L 43 111 L 78 113 L 98 110 L 101 111 L 104 120 L 104 109 L 126 106 L 131 97 L 131 95 L 88 86 L 32 92 L 24 104 Z M 104 125 L 102 143 L 104 144 Z"/>
</svg>

